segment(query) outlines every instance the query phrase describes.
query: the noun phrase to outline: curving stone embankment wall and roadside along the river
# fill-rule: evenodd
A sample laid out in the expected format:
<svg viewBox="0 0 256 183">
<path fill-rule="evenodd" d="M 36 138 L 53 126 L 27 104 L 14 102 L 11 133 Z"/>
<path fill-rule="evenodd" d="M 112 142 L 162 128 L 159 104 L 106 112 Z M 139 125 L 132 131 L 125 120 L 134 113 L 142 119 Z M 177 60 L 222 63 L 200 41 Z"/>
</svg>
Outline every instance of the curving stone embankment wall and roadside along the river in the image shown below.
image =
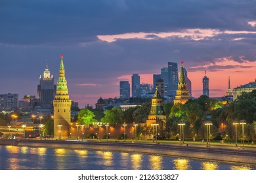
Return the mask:
<svg viewBox="0 0 256 183">
<path fill-rule="evenodd" d="M 225 161 L 230 163 L 246 163 L 256 165 L 255 148 L 238 149 L 228 146 L 211 146 L 210 148 L 206 148 L 205 146 L 181 146 L 178 144 L 164 143 L 150 144 L 142 142 L 54 141 L 32 139 L 0 139 L 0 145 L 131 152 L 141 154 L 155 154 L 159 156 L 176 156 L 181 158 L 208 159 L 211 161 Z"/>
</svg>

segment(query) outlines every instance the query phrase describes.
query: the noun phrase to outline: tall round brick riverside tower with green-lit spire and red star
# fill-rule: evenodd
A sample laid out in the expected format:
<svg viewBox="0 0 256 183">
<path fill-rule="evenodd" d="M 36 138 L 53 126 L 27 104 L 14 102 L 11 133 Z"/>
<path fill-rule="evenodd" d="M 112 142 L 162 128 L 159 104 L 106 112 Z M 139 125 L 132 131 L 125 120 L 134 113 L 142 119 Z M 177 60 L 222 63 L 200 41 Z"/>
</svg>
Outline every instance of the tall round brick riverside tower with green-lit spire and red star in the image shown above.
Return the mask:
<svg viewBox="0 0 256 183">
<path fill-rule="evenodd" d="M 65 78 L 63 55 L 60 55 L 60 71 L 56 89 L 54 108 L 54 139 L 68 139 L 70 133 L 71 100 Z"/>
</svg>

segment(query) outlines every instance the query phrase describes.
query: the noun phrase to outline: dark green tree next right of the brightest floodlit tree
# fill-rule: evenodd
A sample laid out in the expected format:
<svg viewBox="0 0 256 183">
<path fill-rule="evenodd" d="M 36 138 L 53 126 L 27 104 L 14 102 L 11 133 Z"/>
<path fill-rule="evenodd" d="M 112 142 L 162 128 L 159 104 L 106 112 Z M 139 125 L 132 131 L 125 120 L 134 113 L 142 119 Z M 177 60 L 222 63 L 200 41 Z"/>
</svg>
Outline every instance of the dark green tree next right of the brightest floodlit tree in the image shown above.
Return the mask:
<svg viewBox="0 0 256 183">
<path fill-rule="evenodd" d="M 101 122 L 105 124 L 122 124 L 123 111 L 121 108 L 114 107 L 111 110 L 105 110 L 105 116 L 101 118 Z"/>
</svg>

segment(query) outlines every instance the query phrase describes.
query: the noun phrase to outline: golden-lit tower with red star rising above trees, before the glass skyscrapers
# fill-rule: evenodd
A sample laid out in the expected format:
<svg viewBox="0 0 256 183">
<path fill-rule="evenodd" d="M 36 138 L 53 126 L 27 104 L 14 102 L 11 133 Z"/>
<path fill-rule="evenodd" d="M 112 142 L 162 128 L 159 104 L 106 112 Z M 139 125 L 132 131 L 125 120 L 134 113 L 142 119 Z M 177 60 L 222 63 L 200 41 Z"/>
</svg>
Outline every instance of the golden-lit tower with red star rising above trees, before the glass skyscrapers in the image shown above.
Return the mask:
<svg viewBox="0 0 256 183">
<path fill-rule="evenodd" d="M 181 64 L 181 75 L 178 84 L 178 90 L 176 92 L 175 100 L 173 101 L 174 104 L 181 103 L 184 104 L 188 101 L 189 95 L 188 90 L 186 89 L 186 80 L 184 76 L 184 67 Z"/>
</svg>

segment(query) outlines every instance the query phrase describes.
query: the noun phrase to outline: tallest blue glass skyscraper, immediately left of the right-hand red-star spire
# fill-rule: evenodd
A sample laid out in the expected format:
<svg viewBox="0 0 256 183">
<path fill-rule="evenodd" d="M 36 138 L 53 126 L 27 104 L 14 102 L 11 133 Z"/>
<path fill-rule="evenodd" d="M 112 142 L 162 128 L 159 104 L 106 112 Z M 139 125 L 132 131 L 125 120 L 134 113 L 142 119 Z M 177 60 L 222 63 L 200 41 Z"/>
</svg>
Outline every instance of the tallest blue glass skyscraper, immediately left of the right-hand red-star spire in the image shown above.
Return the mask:
<svg viewBox="0 0 256 183">
<path fill-rule="evenodd" d="M 163 79 L 164 80 L 164 79 Z M 178 89 L 179 75 L 177 63 L 168 62 L 168 90 L 167 95 L 176 95 Z"/>
</svg>

